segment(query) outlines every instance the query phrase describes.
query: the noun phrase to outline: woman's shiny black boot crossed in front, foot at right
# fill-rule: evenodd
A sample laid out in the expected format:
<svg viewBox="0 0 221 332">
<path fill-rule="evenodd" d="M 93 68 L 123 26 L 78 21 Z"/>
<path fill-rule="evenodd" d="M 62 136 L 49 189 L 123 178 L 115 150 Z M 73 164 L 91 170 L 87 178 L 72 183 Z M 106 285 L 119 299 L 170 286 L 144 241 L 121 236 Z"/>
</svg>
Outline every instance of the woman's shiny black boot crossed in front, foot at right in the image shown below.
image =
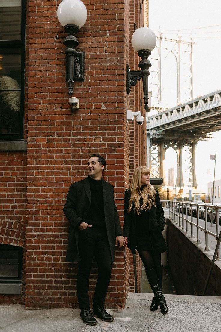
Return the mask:
<svg viewBox="0 0 221 332">
<path fill-rule="evenodd" d="M 160 282 L 156 274 L 155 268 L 151 270 L 145 270 L 146 276 L 148 279 L 148 282 L 150 284 L 150 287 L 154 293 L 155 298 L 158 300 L 158 303 L 160 305 L 160 310 L 163 314 L 166 314 L 168 312 L 167 303 L 165 300 L 165 297 L 162 293 L 162 288 L 160 287 Z"/>
</svg>

